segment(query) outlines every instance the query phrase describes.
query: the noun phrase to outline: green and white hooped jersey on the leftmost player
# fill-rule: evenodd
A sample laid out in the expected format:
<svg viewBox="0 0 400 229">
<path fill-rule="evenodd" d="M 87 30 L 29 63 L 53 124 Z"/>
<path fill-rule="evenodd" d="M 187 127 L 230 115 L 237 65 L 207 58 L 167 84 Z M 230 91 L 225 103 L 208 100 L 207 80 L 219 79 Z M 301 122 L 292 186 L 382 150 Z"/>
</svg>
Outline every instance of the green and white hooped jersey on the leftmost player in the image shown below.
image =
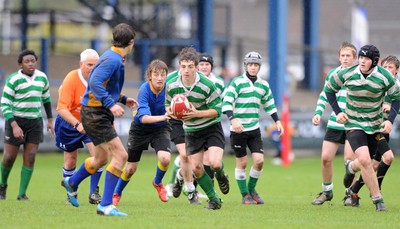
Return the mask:
<svg viewBox="0 0 400 229">
<path fill-rule="evenodd" d="M 4 118 L 41 118 L 42 104 L 50 102 L 49 88 L 44 72 L 35 70 L 32 76 L 23 74 L 21 70 L 12 73 L 6 80 L 1 97 Z"/>
</svg>

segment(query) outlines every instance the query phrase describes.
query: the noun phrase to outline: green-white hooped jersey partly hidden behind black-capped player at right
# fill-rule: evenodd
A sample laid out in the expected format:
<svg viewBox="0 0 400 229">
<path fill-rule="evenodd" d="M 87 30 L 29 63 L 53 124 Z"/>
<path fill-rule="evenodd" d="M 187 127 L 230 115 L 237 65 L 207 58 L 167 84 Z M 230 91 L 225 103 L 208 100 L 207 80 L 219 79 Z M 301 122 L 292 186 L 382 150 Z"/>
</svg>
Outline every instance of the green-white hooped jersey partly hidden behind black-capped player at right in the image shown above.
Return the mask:
<svg viewBox="0 0 400 229">
<path fill-rule="evenodd" d="M 341 69 L 342 69 L 342 67 L 339 66 L 337 68 L 330 70 L 325 79 L 325 84 L 329 81 L 329 79 L 333 73 L 336 73 Z M 342 109 L 342 111 L 344 111 L 344 109 L 346 108 L 346 88 L 342 87 L 336 93 L 336 99 L 338 101 L 340 109 Z M 315 108 L 314 115 L 318 114 L 318 115 L 322 116 L 322 113 L 324 113 L 327 105 L 328 105 L 328 99 L 326 98 L 325 92 L 322 90 L 321 93 L 319 94 L 319 98 L 317 101 L 317 107 Z M 336 114 L 334 111 L 332 111 L 331 115 L 329 116 L 327 128 L 331 128 L 331 129 L 335 129 L 335 130 L 344 130 L 344 125 L 340 124 L 336 121 Z"/>
</svg>

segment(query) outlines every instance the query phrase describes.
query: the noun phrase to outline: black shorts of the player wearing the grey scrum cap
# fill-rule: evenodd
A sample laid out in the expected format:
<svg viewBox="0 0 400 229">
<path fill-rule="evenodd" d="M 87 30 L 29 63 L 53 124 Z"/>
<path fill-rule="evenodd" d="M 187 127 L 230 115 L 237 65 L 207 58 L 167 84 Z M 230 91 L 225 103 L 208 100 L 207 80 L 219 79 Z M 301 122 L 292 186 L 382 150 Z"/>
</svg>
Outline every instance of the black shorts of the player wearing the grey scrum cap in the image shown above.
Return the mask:
<svg viewBox="0 0 400 229">
<path fill-rule="evenodd" d="M 247 155 L 246 147 L 249 147 L 251 153 L 264 153 L 260 128 L 240 134 L 231 131 L 230 138 L 231 148 L 237 158 Z"/>
</svg>

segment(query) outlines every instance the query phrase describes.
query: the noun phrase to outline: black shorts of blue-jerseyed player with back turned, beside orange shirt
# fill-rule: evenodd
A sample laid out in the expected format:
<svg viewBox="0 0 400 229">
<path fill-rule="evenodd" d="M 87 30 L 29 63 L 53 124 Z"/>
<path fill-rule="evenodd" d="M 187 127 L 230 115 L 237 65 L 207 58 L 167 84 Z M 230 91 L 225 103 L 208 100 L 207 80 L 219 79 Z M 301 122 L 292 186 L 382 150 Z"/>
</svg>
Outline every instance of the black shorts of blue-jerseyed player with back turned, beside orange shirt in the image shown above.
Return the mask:
<svg viewBox="0 0 400 229">
<path fill-rule="evenodd" d="M 95 146 L 118 137 L 114 128 L 114 115 L 105 107 L 82 106 L 81 121 L 86 134 Z"/>
</svg>

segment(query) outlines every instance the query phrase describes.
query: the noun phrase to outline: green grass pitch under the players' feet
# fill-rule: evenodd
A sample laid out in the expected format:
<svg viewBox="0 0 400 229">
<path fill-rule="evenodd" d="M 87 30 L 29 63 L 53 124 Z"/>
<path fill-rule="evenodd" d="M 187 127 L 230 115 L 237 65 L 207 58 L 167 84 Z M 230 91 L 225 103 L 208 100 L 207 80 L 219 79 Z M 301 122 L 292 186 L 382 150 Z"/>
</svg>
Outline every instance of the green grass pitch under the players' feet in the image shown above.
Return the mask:
<svg viewBox="0 0 400 229">
<path fill-rule="evenodd" d="M 82 162 L 86 154 L 81 154 Z M 231 191 L 220 195 L 224 203 L 218 211 L 202 205 L 189 205 L 184 196 L 167 203 L 158 199 L 151 180 L 155 173 L 154 154 L 142 157 L 138 171 L 123 193 L 119 209 L 128 217 L 101 217 L 87 201 L 89 180 L 80 185 L 81 206 L 66 205 L 66 193 L 60 186 L 62 154 L 45 153 L 36 158 L 36 168 L 28 188 L 30 201 L 16 200 L 21 169 L 19 156 L 10 175 L 7 200 L 0 201 L 1 228 L 398 228 L 400 225 L 400 173 L 394 162 L 383 184 L 388 212 L 376 212 L 367 189 L 360 194 L 360 208 L 344 207 L 341 156 L 334 163 L 334 199 L 322 206 L 311 201 L 321 190 L 320 159 L 296 158 L 289 167 L 273 166 L 266 158 L 257 190 L 265 205 L 241 204 L 234 179 L 234 157 L 225 157 Z M 170 173 L 164 178 L 168 182 Z M 103 181 L 100 183 L 102 192 Z M 218 188 L 217 191 L 219 192 Z M 219 192 L 220 193 L 220 192 Z"/>
</svg>

